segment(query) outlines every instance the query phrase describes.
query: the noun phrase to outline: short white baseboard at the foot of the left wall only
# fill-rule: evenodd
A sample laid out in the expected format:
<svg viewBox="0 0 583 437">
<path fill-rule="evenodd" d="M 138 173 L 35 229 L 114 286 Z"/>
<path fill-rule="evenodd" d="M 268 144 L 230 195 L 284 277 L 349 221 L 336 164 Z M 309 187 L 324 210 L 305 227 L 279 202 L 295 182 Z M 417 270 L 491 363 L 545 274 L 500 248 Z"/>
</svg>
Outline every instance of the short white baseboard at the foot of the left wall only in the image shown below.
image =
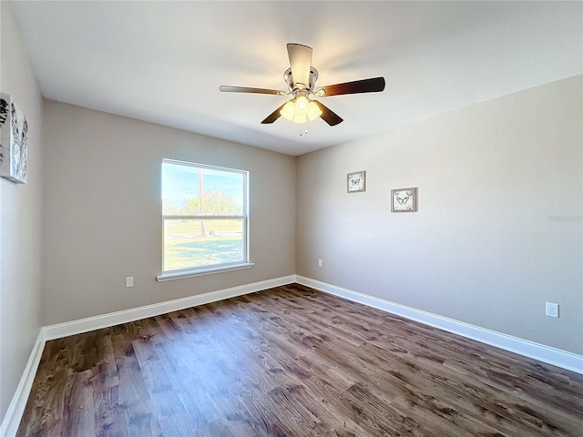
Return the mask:
<svg viewBox="0 0 583 437">
<path fill-rule="evenodd" d="M 8 410 L 6 410 L 2 423 L 0 423 L 0 436 L 2 437 L 12 437 L 18 431 L 18 425 L 20 425 L 22 414 L 25 412 L 30 389 L 35 381 L 36 369 L 38 369 L 38 364 L 45 350 L 45 342 L 42 332 L 39 331 L 33 351 L 26 362 L 25 371 L 22 374 L 22 378 L 20 378 L 20 382 L 18 382 L 18 387 L 16 387 L 15 395 L 12 397 L 10 405 L 8 405 Z"/>
</svg>

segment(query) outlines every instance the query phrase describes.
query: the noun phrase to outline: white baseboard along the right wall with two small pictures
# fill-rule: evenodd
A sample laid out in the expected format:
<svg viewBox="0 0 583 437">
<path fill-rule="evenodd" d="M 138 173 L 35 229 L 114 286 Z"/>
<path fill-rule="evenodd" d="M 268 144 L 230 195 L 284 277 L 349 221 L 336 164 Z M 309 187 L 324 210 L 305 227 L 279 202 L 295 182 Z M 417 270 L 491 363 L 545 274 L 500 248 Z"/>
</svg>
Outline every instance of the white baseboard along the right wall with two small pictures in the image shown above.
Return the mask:
<svg viewBox="0 0 583 437">
<path fill-rule="evenodd" d="M 388 300 L 375 298 L 367 294 L 359 293 L 358 291 L 336 287 L 320 280 L 305 278 L 300 275 L 296 275 L 295 278 L 296 282 L 299 284 L 312 287 L 312 289 L 321 290 L 347 300 L 353 300 L 378 310 L 384 310 L 402 316 L 405 319 L 419 321 L 425 325 L 433 326 L 440 330 L 453 332 L 462 337 L 481 341 L 491 346 L 504 349 L 505 351 L 515 352 L 528 358 L 547 362 L 548 364 L 552 364 L 568 371 L 575 371 L 583 374 L 583 356 L 581 355 L 568 351 L 561 351 L 559 349 L 551 348 L 550 346 L 535 343 L 534 341 L 519 339 L 511 335 L 496 332 L 495 330 L 486 330 L 485 328 L 470 325 L 463 321 L 448 319 L 430 312 L 415 310 L 414 308 L 399 305 L 398 303 L 390 302 Z"/>
</svg>

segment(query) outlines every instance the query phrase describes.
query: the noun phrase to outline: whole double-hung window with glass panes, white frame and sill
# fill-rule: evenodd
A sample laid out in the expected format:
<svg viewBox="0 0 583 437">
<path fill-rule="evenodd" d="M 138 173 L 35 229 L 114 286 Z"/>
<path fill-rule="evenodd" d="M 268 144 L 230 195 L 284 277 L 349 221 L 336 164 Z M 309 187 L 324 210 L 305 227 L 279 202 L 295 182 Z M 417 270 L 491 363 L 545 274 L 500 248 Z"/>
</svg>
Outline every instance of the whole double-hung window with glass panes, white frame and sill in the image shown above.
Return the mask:
<svg viewBox="0 0 583 437">
<path fill-rule="evenodd" d="M 159 280 L 249 263 L 249 172 L 162 160 L 164 253 Z"/>
</svg>

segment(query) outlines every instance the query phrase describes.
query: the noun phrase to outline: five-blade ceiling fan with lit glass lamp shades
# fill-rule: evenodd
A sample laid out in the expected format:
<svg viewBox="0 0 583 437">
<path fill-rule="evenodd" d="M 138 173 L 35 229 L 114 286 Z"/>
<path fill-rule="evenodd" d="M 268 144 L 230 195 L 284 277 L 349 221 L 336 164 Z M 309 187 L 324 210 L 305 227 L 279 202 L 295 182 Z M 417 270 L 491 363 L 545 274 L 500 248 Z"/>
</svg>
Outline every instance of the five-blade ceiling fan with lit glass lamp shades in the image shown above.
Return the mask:
<svg viewBox="0 0 583 437">
<path fill-rule="evenodd" d="M 315 87 L 318 80 L 318 70 L 312 66 L 312 47 L 302 44 L 287 45 L 290 58 L 290 68 L 283 74 L 288 84 L 288 91 L 246 86 L 220 86 L 224 93 L 255 93 L 276 96 L 292 96 L 292 100 L 278 107 L 261 124 L 271 124 L 280 116 L 294 123 L 307 123 L 322 117 L 330 126 L 343 122 L 343 118 L 325 107 L 315 97 L 338 96 L 342 94 L 377 93 L 384 90 L 384 77 L 344 82 L 343 84 Z M 307 132 L 307 131 L 306 131 Z"/>
</svg>

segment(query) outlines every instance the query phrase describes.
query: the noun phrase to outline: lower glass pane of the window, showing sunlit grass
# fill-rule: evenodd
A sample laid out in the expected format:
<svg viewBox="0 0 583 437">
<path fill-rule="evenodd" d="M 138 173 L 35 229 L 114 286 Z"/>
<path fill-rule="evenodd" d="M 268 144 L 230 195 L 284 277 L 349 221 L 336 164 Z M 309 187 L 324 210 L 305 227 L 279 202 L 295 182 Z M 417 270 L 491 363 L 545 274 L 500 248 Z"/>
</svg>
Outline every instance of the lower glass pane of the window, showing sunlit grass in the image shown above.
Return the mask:
<svg viewBox="0 0 583 437">
<path fill-rule="evenodd" d="M 165 219 L 164 271 L 245 259 L 243 219 Z"/>
</svg>

